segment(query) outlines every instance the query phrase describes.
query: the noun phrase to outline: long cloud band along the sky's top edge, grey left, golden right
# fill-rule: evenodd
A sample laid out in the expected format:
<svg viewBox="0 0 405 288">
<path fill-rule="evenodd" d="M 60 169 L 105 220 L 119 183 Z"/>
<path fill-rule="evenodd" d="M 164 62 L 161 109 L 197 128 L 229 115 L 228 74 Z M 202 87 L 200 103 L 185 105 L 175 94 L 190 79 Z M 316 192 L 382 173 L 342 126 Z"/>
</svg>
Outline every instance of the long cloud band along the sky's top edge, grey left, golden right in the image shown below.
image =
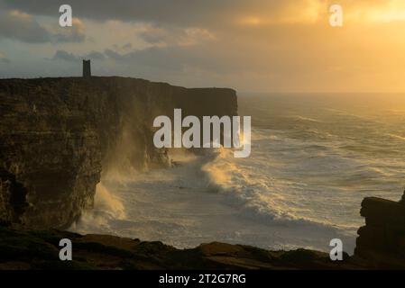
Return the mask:
<svg viewBox="0 0 405 288">
<path fill-rule="evenodd" d="M 59 17 L 63 1 L 0 0 L 9 9 Z M 101 22 L 120 20 L 180 27 L 224 29 L 227 26 L 320 23 L 333 0 L 69 0 L 73 14 Z M 403 0 L 339 0 L 351 21 L 405 21 Z"/>
</svg>

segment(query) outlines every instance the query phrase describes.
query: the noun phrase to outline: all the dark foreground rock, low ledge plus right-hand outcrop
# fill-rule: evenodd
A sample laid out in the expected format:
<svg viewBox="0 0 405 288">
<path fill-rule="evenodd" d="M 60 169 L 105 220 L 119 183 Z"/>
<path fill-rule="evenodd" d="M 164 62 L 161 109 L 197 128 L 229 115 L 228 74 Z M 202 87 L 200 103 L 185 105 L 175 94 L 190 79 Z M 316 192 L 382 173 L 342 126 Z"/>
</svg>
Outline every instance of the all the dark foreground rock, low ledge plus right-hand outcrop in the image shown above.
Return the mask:
<svg viewBox="0 0 405 288">
<path fill-rule="evenodd" d="M 161 242 L 111 235 L 79 235 L 57 229 L 27 229 L 0 224 L 0 270 L 235 270 L 235 269 L 405 269 L 404 202 L 365 198 L 353 256 L 342 261 L 308 249 L 269 251 L 213 242 L 178 249 Z M 60 239 L 72 242 L 72 261 L 60 261 Z"/>
</svg>

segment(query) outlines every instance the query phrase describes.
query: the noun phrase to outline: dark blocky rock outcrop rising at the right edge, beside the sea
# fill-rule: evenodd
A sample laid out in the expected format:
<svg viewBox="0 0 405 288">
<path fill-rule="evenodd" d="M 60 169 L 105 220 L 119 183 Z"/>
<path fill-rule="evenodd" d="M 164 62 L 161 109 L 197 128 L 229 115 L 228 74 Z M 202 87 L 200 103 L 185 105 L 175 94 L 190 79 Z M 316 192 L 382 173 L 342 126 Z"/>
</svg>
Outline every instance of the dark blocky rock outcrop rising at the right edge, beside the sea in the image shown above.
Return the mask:
<svg viewBox="0 0 405 288">
<path fill-rule="evenodd" d="M 375 269 L 405 269 L 405 203 L 369 197 L 362 202 L 365 226 L 354 256 Z"/>
</svg>

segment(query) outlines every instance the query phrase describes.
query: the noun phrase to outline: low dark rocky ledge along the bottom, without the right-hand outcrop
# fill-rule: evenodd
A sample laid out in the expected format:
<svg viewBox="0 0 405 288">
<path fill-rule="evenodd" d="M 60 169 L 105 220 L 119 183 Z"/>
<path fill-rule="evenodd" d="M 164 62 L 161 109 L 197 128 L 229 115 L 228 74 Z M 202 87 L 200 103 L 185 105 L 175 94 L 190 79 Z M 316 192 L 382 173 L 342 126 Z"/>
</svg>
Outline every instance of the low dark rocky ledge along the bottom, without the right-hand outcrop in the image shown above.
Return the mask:
<svg viewBox="0 0 405 288">
<path fill-rule="evenodd" d="M 60 261 L 59 242 L 73 243 L 73 261 Z M 161 242 L 58 230 L 0 227 L 0 269 L 358 269 L 350 258 L 332 262 L 322 252 L 267 251 L 224 243 L 176 249 Z"/>
</svg>

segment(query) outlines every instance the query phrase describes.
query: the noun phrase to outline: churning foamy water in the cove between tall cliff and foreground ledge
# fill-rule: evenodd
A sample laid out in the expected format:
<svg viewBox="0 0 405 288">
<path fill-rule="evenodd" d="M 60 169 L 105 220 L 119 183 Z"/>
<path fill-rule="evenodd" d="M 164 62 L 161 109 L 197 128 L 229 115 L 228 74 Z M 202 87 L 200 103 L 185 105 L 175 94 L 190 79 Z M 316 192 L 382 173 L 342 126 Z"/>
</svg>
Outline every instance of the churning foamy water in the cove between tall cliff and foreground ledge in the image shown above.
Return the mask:
<svg viewBox="0 0 405 288">
<path fill-rule="evenodd" d="M 131 181 L 123 181 L 123 177 L 103 179 L 108 190 L 97 189 L 95 209 L 87 211 L 72 230 L 161 240 L 180 248 L 222 241 L 269 249 L 327 250 L 330 238 L 344 238 L 335 229 L 322 229 L 317 224 L 296 225 L 299 220 L 291 220 L 288 213 L 285 215 L 290 220 L 281 220 L 282 208 L 277 203 L 285 200 L 281 191 L 273 192 L 269 179 L 249 169 L 251 164 L 240 166 L 244 161 L 231 161 L 235 157 L 227 155 L 228 149 L 203 155 L 171 152 L 175 152 L 170 156 L 177 165 L 170 169 L 138 173 Z M 254 186 L 254 173 L 262 186 Z M 123 211 L 117 209 L 120 204 L 115 200 L 124 204 L 122 220 L 115 218 L 122 216 L 117 211 Z M 271 212 L 273 207 L 280 211 L 278 218 Z"/>
</svg>

